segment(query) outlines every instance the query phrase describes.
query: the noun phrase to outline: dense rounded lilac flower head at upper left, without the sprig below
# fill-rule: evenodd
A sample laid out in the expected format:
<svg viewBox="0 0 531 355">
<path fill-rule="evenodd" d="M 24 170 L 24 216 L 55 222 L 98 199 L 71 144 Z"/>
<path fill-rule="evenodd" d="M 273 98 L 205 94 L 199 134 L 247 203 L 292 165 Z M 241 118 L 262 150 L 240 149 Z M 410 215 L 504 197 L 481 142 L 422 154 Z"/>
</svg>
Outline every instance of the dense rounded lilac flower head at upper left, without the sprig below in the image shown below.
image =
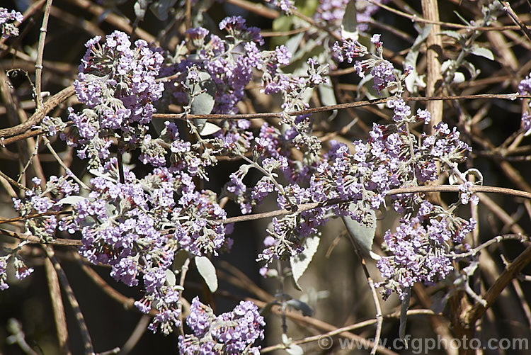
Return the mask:
<svg viewBox="0 0 531 355">
<path fill-rule="evenodd" d="M 164 58 L 144 40 L 131 48 L 129 36 L 115 31 L 99 43 L 96 36 L 86 43 L 87 51 L 74 82 L 79 101 L 99 114 L 101 128 L 127 130 L 134 123 L 147 124 L 162 94 L 157 83 Z"/>
</svg>

